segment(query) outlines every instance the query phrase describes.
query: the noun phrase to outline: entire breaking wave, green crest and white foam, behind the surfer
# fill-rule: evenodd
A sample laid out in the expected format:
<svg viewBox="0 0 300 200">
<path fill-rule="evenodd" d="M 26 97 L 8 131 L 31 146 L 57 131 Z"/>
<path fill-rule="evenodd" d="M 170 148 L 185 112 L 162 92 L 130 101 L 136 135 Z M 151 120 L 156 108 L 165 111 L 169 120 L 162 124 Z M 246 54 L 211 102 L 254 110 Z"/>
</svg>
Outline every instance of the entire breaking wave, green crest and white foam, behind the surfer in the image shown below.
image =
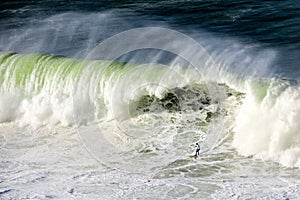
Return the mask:
<svg viewBox="0 0 300 200">
<path fill-rule="evenodd" d="M 207 77 L 203 80 L 203 74 L 195 76 L 194 68 L 180 65 L 127 64 L 9 52 L 1 52 L 0 63 L 2 123 L 72 126 L 103 119 L 120 124 L 130 119 L 131 124 L 136 120 L 133 127 L 126 123 L 120 127 L 128 129 L 126 134 L 131 133 L 124 137 L 132 138 L 141 130 L 132 128 L 139 127 L 143 120 L 150 122 L 149 128 L 155 124 L 149 116 L 179 113 L 180 119 L 190 118 L 183 122 L 186 127 L 205 132 L 201 140 L 208 148 L 222 145 L 220 141 L 230 135 L 233 147 L 242 155 L 299 166 L 299 87 L 293 81 L 250 77 L 243 78 L 241 84 L 240 78 L 232 81 L 232 76 L 228 76 L 231 78 L 227 83 L 224 79 L 218 83 L 215 79 L 208 81 Z M 231 88 L 234 82 L 238 84 Z M 213 133 L 221 122 L 215 120 L 213 124 L 211 119 L 227 116 L 230 120 L 222 126 L 222 136 L 216 139 L 220 132 Z M 256 120 L 259 117 L 261 121 Z M 180 126 L 182 121 L 175 119 L 170 118 L 167 124 Z M 141 127 L 144 129 L 145 125 Z M 213 136 L 208 137 L 209 134 Z M 117 141 L 115 135 L 108 138 L 110 142 Z M 128 146 L 123 142 L 115 145 Z"/>
</svg>

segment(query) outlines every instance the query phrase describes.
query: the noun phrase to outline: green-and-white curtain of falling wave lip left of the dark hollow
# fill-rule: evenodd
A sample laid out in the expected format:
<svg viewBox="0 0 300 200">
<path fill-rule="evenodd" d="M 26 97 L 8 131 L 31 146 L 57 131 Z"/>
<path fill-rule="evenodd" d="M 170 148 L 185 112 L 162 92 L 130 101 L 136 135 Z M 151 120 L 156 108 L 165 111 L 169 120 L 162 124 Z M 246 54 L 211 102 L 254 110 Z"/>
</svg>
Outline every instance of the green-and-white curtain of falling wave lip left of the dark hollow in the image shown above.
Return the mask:
<svg viewBox="0 0 300 200">
<path fill-rule="evenodd" d="M 33 102 L 36 97 L 42 98 L 37 102 L 46 104 L 53 104 L 55 98 L 69 98 L 74 111 L 92 113 L 89 118 L 127 118 L 132 100 L 144 95 L 163 98 L 170 88 L 200 80 L 194 71 L 180 67 L 10 52 L 0 52 L 0 67 L 2 95 L 18 97 L 19 104 L 24 99 Z"/>
</svg>

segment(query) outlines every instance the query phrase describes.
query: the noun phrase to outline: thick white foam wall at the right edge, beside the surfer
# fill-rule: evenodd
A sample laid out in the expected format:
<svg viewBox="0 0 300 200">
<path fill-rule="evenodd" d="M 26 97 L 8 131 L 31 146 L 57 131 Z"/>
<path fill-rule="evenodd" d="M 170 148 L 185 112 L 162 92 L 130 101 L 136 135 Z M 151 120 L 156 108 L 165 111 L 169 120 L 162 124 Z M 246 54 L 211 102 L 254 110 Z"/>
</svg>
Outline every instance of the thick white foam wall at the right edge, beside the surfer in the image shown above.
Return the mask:
<svg viewBox="0 0 300 200">
<path fill-rule="evenodd" d="M 259 100 L 248 83 L 233 146 L 242 155 L 300 167 L 300 88 L 274 81 Z"/>
</svg>

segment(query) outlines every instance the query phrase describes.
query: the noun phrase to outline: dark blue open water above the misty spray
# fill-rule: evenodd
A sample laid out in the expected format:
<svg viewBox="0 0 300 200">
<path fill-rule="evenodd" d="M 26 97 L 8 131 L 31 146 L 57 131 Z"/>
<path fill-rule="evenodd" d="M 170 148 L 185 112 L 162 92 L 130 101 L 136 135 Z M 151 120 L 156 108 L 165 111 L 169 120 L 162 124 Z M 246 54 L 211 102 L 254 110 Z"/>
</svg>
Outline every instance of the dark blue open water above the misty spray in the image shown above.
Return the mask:
<svg viewBox="0 0 300 200">
<path fill-rule="evenodd" d="M 1 29 L 24 25 L 32 17 L 44 18 L 68 11 L 129 9 L 138 16 L 174 26 L 250 37 L 265 45 L 300 48 L 300 2 L 297 0 L 1 1 L 0 6 Z"/>
</svg>

